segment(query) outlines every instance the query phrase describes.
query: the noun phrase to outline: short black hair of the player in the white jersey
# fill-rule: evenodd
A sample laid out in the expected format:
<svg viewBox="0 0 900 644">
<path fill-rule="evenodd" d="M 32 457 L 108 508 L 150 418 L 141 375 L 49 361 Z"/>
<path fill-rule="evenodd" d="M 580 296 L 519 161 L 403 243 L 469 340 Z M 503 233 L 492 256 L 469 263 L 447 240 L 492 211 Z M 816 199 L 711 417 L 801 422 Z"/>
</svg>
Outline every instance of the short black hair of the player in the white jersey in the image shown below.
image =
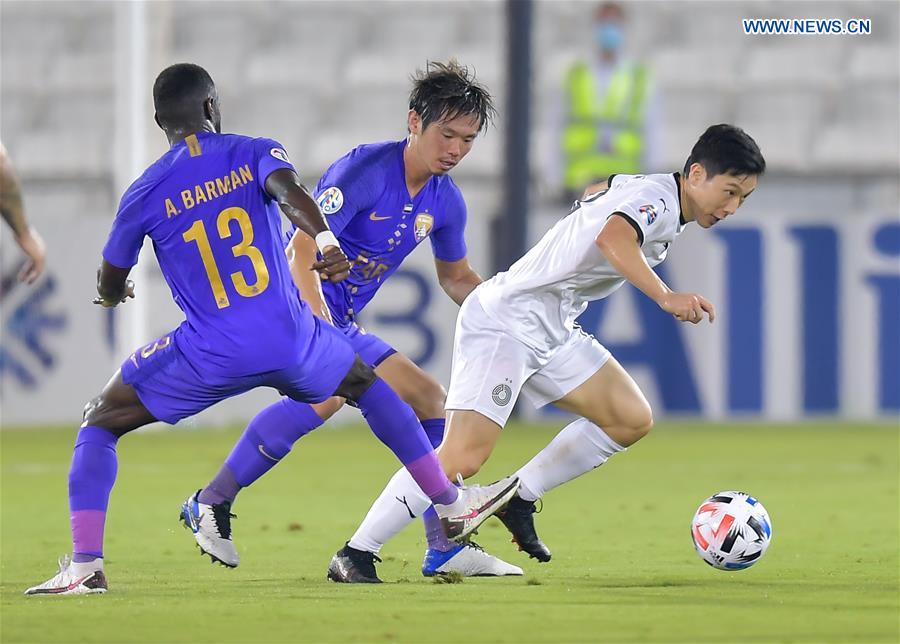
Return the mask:
<svg viewBox="0 0 900 644">
<path fill-rule="evenodd" d="M 717 174 L 761 175 L 766 160 L 749 134 L 734 125 L 711 125 L 700 135 L 684 164 L 687 176 L 691 165 L 699 163 L 711 179 Z"/>
</svg>

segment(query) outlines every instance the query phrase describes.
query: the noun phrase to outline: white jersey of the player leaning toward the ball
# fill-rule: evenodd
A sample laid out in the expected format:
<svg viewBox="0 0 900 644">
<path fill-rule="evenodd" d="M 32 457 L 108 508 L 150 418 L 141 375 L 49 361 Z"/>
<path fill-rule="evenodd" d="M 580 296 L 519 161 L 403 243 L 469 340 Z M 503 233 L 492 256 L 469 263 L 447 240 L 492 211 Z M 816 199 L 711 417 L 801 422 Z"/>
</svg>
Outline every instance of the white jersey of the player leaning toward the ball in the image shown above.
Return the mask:
<svg viewBox="0 0 900 644">
<path fill-rule="evenodd" d="M 608 190 L 588 196 L 504 273 L 475 293 L 485 312 L 538 354 L 562 346 L 588 302 L 625 283 L 595 240 L 607 219 L 621 213 L 638 233 L 650 266 L 666 258 L 681 233 L 677 174 L 614 175 Z"/>
</svg>

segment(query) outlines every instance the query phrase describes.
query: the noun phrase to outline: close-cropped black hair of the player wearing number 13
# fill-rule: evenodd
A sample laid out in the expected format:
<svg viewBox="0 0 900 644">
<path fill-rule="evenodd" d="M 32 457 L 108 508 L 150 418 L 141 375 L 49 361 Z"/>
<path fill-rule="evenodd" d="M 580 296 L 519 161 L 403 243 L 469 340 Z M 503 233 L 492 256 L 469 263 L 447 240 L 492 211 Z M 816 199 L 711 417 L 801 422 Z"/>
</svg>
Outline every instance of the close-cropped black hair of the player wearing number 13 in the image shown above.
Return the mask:
<svg viewBox="0 0 900 644">
<path fill-rule="evenodd" d="M 216 86 L 212 77 L 199 65 L 178 63 L 166 67 L 153 83 L 156 118 L 165 127 L 202 120 L 203 103 L 215 94 Z"/>
</svg>

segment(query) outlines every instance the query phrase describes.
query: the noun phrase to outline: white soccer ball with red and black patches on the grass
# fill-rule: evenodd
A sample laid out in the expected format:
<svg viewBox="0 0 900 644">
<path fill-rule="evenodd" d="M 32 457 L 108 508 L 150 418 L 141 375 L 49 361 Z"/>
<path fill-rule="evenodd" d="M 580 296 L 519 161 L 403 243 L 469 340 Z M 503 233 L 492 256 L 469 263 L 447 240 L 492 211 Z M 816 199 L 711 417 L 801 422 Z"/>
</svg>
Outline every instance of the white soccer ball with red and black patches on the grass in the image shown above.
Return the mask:
<svg viewBox="0 0 900 644">
<path fill-rule="evenodd" d="M 743 570 L 766 553 L 772 521 L 746 492 L 719 492 L 704 501 L 691 521 L 697 554 L 713 568 Z"/>
</svg>

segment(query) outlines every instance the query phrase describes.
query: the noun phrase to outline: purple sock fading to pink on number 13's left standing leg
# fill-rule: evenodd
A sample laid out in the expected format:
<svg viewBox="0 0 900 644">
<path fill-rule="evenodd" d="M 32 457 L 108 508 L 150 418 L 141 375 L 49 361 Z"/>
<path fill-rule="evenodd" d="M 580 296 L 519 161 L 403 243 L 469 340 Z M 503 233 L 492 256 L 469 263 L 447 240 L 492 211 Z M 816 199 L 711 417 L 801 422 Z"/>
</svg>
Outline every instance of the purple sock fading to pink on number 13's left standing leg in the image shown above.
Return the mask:
<svg viewBox="0 0 900 644">
<path fill-rule="evenodd" d="M 76 562 L 103 556 L 106 508 L 118 470 L 118 440 L 101 427 L 88 425 L 78 430 L 69 469 L 69 516 Z"/>
</svg>

